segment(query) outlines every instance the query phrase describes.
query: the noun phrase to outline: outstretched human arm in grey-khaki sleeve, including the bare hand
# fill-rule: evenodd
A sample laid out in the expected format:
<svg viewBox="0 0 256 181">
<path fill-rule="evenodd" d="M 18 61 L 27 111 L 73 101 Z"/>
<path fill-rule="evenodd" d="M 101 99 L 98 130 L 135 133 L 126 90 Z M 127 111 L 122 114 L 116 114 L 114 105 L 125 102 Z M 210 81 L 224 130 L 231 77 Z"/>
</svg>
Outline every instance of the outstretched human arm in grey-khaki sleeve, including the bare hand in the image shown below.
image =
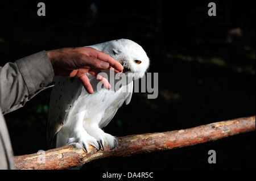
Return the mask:
<svg viewBox="0 0 256 181">
<path fill-rule="evenodd" d="M 5 114 L 24 106 L 40 91 L 53 86 L 54 75 L 77 77 L 92 94 L 93 89 L 86 74 L 97 76 L 100 70 L 109 66 L 118 71 L 123 69 L 108 54 L 90 47 L 42 51 L 9 62 L 0 68 L 0 107 Z M 103 77 L 102 80 L 107 81 Z"/>
</svg>

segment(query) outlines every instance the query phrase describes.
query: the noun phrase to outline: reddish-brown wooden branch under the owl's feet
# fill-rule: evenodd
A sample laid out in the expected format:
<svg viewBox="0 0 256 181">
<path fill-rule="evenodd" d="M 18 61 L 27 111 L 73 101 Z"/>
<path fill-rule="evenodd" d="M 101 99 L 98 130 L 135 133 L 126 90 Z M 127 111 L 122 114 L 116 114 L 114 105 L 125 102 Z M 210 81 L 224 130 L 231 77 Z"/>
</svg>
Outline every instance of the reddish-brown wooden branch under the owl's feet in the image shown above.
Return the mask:
<svg viewBox="0 0 256 181">
<path fill-rule="evenodd" d="M 16 169 L 69 169 L 94 159 L 106 157 L 129 157 L 139 153 L 170 150 L 201 144 L 235 134 L 255 131 L 255 116 L 221 121 L 179 131 L 136 134 L 117 137 L 118 145 L 113 150 L 107 146 L 97 151 L 89 146 L 88 153 L 74 145 L 45 151 L 45 154 L 28 154 L 15 157 Z"/>
</svg>

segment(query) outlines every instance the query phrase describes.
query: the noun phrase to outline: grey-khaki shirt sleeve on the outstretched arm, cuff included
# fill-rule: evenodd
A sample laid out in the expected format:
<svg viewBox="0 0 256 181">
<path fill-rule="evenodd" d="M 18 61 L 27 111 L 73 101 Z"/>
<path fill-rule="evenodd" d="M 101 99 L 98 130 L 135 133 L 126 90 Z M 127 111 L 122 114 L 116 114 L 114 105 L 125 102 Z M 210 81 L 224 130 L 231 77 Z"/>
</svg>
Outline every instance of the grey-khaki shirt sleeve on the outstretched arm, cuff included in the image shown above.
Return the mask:
<svg viewBox="0 0 256 181">
<path fill-rule="evenodd" d="M 54 72 L 46 51 L 0 67 L 0 107 L 17 110 L 40 91 L 52 87 Z"/>
</svg>

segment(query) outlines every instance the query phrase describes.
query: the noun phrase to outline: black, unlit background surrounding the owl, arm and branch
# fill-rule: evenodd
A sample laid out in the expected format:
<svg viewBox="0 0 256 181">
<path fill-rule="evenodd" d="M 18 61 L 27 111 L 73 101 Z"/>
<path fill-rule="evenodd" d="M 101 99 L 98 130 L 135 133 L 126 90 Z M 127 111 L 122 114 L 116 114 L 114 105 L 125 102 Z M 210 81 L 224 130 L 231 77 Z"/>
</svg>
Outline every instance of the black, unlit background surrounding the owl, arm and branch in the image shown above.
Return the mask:
<svg viewBox="0 0 256 181">
<path fill-rule="evenodd" d="M 104 129 L 114 136 L 173 131 L 255 115 L 255 10 L 251 1 L 0 2 L 0 62 L 126 38 L 150 57 L 159 95 L 134 93 Z M 238 3 L 239 2 L 239 3 Z M 51 89 L 5 115 L 15 155 L 48 150 Z M 217 163 L 208 163 L 215 150 Z M 83 169 L 255 169 L 255 132 L 187 148 L 108 158 Z"/>
</svg>

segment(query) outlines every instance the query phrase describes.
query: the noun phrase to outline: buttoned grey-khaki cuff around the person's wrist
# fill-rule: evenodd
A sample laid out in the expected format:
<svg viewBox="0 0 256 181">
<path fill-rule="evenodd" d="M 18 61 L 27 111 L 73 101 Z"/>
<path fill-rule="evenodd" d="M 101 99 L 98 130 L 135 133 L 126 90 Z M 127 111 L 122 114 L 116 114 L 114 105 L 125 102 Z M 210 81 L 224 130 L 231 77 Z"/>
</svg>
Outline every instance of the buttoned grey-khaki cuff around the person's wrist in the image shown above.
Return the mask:
<svg viewBox="0 0 256 181">
<path fill-rule="evenodd" d="M 45 50 L 16 61 L 29 94 L 35 94 L 51 84 L 54 71 Z"/>
</svg>

